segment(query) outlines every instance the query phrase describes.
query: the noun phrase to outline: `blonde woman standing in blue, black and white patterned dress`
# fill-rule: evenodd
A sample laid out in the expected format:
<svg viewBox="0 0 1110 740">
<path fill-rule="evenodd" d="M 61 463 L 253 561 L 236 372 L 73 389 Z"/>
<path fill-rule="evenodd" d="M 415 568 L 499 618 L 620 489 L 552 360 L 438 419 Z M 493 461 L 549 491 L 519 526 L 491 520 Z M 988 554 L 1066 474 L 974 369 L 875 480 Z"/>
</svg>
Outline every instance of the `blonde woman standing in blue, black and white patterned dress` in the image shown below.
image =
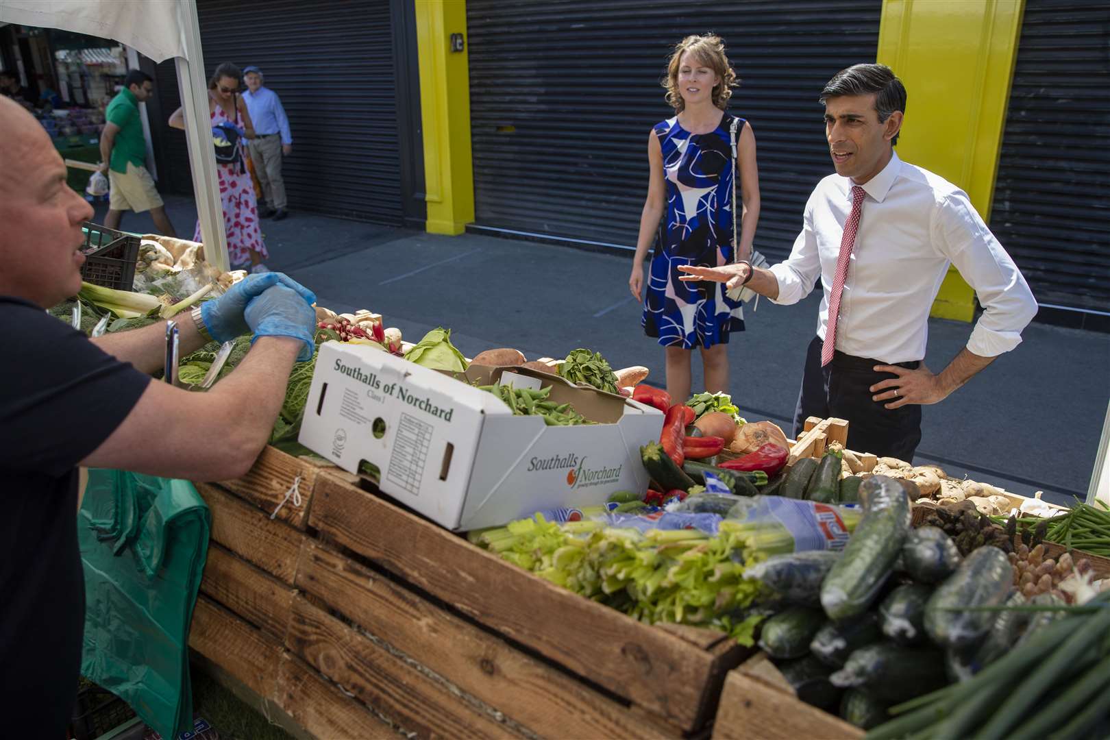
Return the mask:
<svg viewBox="0 0 1110 740">
<path fill-rule="evenodd" d="M 647 139 L 650 181 L 628 287 L 644 302 L 644 332 L 666 347 L 667 392 L 675 403 L 690 395 L 695 347 L 702 351 L 705 389 L 727 393 L 728 335 L 744 331 L 740 302 L 726 295 L 724 284 L 682 282 L 677 270 L 687 264 L 716 267 L 751 254 L 759 219 L 756 139 L 744 119 L 725 112 L 736 85 L 719 37 L 686 37 L 675 47 L 663 82 L 675 116 L 656 124 Z M 731 196 L 737 174 L 739 249 L 734 253 Z M 644 295 L 644 259 L 657 230 Z"/>
</svg>

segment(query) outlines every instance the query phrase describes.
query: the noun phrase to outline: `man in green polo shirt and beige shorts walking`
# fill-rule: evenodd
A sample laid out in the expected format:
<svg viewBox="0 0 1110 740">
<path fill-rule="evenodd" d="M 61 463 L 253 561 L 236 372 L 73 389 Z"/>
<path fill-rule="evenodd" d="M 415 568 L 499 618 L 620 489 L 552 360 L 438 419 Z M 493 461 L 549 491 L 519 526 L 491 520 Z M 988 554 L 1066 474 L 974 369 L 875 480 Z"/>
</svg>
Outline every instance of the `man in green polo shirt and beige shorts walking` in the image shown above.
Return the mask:
<svg viewBox="0 0 1110 740">
<path fill-rule="evenodd" d="M 154 94 L 153 78 L 131 70 L 123 78 L 123 89 L 104 111 L 104 131 L 100 134 L 100 171 L 108 174 L 111 191 L 104 225 L 119 229 L 124 211 L 150 211 L 154 226 L 167 236 L 176 236 L 165 215 L 162 196 L 147 171 L 147 139 L 142 133 L 139 103 Z"/>
</svg>

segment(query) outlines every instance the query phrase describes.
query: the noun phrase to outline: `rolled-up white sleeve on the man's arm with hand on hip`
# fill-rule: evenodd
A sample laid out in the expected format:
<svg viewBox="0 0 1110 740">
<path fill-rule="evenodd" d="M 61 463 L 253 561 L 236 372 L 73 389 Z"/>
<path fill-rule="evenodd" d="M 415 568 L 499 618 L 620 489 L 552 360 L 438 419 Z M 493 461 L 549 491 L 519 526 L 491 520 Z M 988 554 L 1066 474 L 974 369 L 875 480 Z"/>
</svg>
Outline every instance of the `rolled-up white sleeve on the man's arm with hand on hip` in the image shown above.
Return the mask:
<svg viewBox="0 0 1110 740">
<path fill-rule="evenodd" d="M 968 351 L 995 357 L 1013 349 L 1037 315 L 1037 301 L 1013 259 L 961 191 L 939 202 L 932 229 L 934 243 L 975 290 L 983 308 L 971 330 Z"/>
</svg>

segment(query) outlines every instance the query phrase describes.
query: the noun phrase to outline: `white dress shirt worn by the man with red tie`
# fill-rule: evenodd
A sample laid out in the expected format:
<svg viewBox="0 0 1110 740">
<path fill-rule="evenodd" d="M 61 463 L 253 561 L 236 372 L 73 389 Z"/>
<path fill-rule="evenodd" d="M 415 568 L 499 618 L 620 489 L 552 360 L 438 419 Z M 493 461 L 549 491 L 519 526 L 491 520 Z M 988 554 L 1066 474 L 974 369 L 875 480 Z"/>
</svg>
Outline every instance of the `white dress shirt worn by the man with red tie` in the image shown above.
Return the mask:
<svg viewBox="0 0 1110 740">
<path fill-rule="evenodd" d="M 817 184 L 789 259 L 770 267 L 778 280 L 775 303 L 797 303 L 820 277 L 825 297 L 817 336 L 823 341 L 851 185 L 838 174 Z M 840 297 L 836 348 L 887 364 L 922 359 L 929 310 L 949 263 L 983 307 L 967 348 L 993 357 L 1018 346 L 1037 302 L 967 194 L 897 153 L 861 186 L 867 195 Z"/>
</svg>

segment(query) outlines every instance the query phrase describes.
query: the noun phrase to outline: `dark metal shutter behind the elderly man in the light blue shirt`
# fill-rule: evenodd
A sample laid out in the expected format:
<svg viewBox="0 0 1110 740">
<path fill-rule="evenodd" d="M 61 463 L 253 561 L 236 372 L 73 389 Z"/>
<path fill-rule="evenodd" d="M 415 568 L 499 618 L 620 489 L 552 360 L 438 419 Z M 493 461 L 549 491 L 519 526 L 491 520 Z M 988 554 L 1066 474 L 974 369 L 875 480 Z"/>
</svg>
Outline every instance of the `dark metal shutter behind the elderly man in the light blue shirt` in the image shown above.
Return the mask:
<svg viewBox="0 0 1110 740">
<path fill-rule="evenodd" d="M 403 223 L 393 4 L 198 0 L 205 77 L 221 62 L 256 64 L 281 97 L 293 133 L 283 168 L 290 207 Z M 163 100 L 176 93 L 173 75 L 172 61 L 159 65 Z M 191 192 L 184 136 L 163 135 L 171 182 L 180 186 L 183 172 Z"/>
</svg>

